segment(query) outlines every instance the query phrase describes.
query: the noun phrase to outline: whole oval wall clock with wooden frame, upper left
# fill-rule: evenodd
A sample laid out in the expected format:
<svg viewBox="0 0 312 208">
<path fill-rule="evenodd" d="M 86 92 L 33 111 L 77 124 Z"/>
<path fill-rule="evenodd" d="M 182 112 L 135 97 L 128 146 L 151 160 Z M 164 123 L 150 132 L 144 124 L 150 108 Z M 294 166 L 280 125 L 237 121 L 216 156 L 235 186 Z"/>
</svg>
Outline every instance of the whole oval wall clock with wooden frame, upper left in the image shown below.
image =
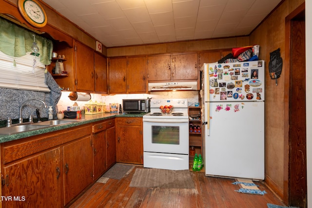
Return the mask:
<svg viewBox="0 0 312 208">
<path fill-rule="evenodd" d="M 47 24 L 47 15 L 37 0 L 18 0 L 18 7 L 23 18 L 35 27 Z"/>
</svg>

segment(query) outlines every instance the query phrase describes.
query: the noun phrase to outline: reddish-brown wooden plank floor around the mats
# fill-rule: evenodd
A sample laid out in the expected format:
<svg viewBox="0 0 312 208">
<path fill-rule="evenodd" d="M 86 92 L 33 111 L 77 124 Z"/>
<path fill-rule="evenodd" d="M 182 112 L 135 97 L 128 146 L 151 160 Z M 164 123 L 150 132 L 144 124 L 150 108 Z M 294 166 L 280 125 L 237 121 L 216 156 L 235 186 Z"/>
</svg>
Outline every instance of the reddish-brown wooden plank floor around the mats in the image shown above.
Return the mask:
<svg viewBox="0 0 312 208">
<path fill-rule="evenodd" d="M 122 179 L 95 183 L 70 208 L 267 208 L 283 205 L 263 183 L 255 182 L 267 194 L 238 193 L 234 179 L 207 177 L 191 172 L 195 189 L 129 187 L 136 168 Z"/>
</svg>

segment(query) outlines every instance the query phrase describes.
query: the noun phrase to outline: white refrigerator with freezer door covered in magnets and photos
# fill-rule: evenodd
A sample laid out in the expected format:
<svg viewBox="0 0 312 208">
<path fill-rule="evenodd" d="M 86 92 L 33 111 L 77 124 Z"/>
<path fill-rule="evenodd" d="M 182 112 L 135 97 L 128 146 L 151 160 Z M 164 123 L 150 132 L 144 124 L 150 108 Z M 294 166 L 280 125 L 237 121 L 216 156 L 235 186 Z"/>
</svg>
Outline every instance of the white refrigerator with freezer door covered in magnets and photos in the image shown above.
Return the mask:
<svg viewBox="0 0 312 208">
<path fill-rule="evenodd" d="M 201 68 L 207 176 L 264 180 L 264 61 Z"/>
</svg>

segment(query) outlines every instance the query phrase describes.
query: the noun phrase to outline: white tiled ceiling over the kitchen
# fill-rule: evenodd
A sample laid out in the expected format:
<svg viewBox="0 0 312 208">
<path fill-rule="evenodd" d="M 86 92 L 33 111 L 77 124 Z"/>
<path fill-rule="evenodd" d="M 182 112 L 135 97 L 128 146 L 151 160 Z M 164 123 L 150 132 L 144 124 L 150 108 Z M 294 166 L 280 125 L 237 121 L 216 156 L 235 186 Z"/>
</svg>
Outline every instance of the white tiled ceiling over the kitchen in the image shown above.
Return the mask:
<svg viewBox="0 0 312 208">
<path fill-rule="evenodd" d="M 43 0 L 106 47 L 249 35 L 281 0 Z"/>
</svg>

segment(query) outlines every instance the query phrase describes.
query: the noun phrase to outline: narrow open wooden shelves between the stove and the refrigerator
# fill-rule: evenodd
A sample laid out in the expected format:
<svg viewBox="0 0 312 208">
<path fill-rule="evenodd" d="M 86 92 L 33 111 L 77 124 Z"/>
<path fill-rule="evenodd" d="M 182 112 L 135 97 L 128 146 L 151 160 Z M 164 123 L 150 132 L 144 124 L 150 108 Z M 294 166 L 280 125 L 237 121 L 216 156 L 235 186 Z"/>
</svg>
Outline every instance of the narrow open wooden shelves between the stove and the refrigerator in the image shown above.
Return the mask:
<svg viewBox="0 0 312 208">
<path fill-rule="evenodd" d="M 195 107 L 195 106 L 189 106 L 188 108 L 189 116 L 192 115 L 200 115 L 201 113 L 201 107 Z M 190 145 L 190 168 L 192 167 L 194 155 L 191 155 L 191 147 L 195 148 L 195 154 L 199 155 L 202 154 L 202 121 L 201 116 L 198 118 L 190 118 L 189 120 L 190 129 L 189 129 L 189 145 Z M 196 127 L 192 128 L 191 127 Z M 199 129 L 198 129 L 199 127 Z"/>
</svg>

